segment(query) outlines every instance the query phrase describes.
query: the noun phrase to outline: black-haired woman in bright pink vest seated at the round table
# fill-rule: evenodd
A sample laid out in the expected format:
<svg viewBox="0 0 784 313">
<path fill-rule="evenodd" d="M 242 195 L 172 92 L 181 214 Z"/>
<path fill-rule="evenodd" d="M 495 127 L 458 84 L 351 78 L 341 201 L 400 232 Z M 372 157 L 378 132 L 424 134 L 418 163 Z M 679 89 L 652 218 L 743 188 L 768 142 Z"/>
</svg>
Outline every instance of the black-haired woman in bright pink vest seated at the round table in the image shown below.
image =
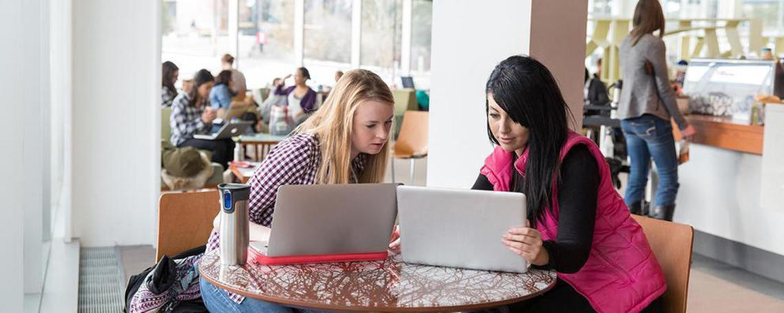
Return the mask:
<svg viewBox="0 0 784 313">
<path fill-rule="evenodd" d="M 568 128 L 568 106 L 542 63 L 511 56 L 486 86 L 495 150 L 474 189 L 523 192 L 528 222 L 499 238 L 557 272 L 541 297 L 501 311 L 657 311 L 666 290 L 640 225 L 613 188 L 598 147 Z"/>
</svg>

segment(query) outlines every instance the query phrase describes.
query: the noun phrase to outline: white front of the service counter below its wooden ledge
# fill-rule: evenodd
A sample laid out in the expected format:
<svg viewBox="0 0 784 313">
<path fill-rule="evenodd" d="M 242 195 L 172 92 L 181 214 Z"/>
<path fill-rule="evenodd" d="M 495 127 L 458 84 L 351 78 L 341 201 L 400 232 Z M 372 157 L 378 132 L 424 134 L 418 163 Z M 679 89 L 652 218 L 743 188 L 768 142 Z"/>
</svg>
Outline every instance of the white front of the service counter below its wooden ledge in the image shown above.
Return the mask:
<svg viewBox="0 0 784 313">
<path fill-rule="evenodd" d="M 784 210 L 760 207 L 762 156 L 702 145 L 689 155 L 678 167 L 673 221 L 784 255 Z"/>
</svg>

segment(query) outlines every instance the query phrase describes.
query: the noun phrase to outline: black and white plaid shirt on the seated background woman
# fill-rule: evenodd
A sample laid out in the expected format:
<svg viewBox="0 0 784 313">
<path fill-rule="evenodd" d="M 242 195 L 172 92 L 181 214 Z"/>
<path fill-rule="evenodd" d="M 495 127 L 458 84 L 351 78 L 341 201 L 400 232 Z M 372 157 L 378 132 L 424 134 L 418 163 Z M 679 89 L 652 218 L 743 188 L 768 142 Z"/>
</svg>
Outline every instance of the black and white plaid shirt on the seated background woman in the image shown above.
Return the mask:
<svg viewBox="0 0 784 313">
<path fill-rule="evenodd" d="M 172 115 L 169 124 L 172 125 L 172 145 L 180 146 L 187 139 L 194 138 L 194 134 L 206 134 L 212 130 L 212 123 L 201 121 L 201 113 L 209 106 L 207 99 L 202 100 L 201 106 L 191 106 L 191 96 L 187 92 L 180 95 L 172 102 Z"/>
</svg>

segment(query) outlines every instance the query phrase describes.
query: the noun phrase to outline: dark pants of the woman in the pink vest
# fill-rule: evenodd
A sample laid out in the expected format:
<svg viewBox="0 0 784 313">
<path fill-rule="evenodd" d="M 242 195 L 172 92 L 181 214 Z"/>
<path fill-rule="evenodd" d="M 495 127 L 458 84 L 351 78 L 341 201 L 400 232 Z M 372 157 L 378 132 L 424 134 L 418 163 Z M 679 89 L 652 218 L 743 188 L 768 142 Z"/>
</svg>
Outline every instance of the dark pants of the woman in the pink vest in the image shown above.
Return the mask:
<svg viewBox="0 0 784 313">
<path fill-rule="evenodd" d="M 642 312 L 655 313 L 662 311 L 662 297 L 653 300 Z M 578 293 L 572 286 L 558 279 L 553 289 L 548 290 L 539 297 L 533 297 L 514 304 L 492 308 L 481 313 L 506 313 L 506 312 L 593 312 L 588 299 Z"/>
</svg>

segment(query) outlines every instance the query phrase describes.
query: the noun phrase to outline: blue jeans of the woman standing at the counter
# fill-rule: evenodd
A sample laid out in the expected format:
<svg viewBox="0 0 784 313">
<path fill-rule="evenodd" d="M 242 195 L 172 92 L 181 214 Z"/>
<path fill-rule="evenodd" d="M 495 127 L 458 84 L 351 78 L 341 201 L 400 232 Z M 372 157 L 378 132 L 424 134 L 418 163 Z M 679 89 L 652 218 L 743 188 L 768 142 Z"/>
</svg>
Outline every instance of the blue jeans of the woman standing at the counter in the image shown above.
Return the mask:
<svg viewBox="0 0 784 313">
<path fill-rule="evenodd" d="M 629 183 L 626 185 L 624 197 L 626 205 L 643 199 L 651 158 L 659 174 L 654 205 L 675 204 L 675 196 L 678 192 L 678 158 L 670 121 L 644 114 L 641 117 L 622 120 L 621 129 L 626 137 L 626 149 L 629 150 L 631 159 Z"/>
</svg>

